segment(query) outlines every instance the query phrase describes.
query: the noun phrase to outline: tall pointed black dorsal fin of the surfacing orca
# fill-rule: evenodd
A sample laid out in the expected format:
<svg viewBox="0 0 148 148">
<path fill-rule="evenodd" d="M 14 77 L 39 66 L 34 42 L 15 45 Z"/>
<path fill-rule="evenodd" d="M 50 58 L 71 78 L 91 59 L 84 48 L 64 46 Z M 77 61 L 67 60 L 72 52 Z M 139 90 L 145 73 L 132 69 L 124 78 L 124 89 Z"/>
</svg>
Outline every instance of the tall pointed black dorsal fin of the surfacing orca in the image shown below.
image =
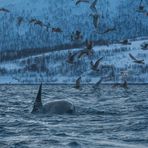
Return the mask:
<svg viewBox="0 0 148 148">
<path fill-rule="evenodd" d="M 43 106 L 41 96 L 42 96 L 42 83 L 40 84 L 38 94 L 37 94 L 37 97 L 35 99 L 33 110 L 32 110 L 31 113 L 37 113 L 37 112 L 41 111 L 42 106 Z"/>
</svg>

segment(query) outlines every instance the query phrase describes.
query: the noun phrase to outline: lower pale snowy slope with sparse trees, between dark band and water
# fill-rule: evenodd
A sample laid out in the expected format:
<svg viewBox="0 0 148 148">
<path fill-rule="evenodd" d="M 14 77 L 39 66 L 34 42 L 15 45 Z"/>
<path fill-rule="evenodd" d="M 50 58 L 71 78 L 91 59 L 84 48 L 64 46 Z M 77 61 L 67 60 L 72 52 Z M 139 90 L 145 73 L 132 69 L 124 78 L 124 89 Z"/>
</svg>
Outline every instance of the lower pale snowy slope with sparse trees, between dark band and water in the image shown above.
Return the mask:
<svg viewBox="0 0 148 148">
<path fill-rule="evenodd" d="M 114 79 L 104 79 L 102 83 L 122 82 L 122 71 L 127 72 L 129 83 L 148 83 L 148 51 L 141 49 L 141 44 L 144 42 L 148 42 L 148 39 L 132 41 L 131 45 L 95 46 L 94 55 L 75 58 L 74 64 L 66 62 L 67 49 L 1 63 L 0 70 L 5 70 L 0 75 L 0 83 L 73 84 L 79 76 L 82 77 L 82 83 L 96 83 L 101 77 L 108 76 L 112 72 L 110 68 L 102 72 L 95 72 L 90 68 L 90 61 L 96 61 L 100 57 L 103 57 L 100 67 L 112 65 L 115 72 Z M 71 52 L 80 50 L 82 49 L 73 49 Z M 134 63 L 129 53 L 138 59 L 144 59 L 145 64 Z"/>
</svg>

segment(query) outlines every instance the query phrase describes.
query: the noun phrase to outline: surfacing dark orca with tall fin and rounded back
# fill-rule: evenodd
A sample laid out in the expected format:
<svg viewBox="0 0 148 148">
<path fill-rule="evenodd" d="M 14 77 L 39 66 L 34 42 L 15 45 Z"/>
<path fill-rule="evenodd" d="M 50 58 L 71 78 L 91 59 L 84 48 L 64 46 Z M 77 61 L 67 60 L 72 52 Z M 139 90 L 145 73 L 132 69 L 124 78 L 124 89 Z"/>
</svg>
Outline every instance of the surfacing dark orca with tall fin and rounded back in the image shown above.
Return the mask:
<svg viewBox="0 0 148 148">
<path fill-rule="evenodd" d="M 53 101 L 43 105 L 41 95 L 42 84 L 39 87 L 39 91 L 35 99 L 33 110 L 31 113 L 72 114 L 75 112 L 75 106 L 72 103 L 65 100 Z"/>
</svg>

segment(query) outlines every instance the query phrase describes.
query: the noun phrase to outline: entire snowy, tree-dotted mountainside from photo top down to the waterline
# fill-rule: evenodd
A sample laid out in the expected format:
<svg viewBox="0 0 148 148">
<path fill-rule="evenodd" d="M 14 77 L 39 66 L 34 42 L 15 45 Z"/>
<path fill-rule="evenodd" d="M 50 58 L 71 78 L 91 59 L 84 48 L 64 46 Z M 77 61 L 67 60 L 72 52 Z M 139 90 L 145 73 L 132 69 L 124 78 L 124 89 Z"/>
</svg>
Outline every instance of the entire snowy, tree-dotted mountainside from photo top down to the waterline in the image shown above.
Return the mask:
<svg viewBox="0 0 148 148">
<path fill-rule="evenodd" d="M 144 10 L 139 12 L 139 1 L 98 0 L 98 27 L 91 15 L 93 2 L 76 5 L 76 0 L 0 0 L 0 83 L 73 83 L 80 75 L 83 83 L 95 83 L 114 73 L 114 79 L 103 81 L 111 83 L 122 81 L 122 71 L 128 72 L 128 82 L 147 83 L 148 54 L 141 50 L 147 38 L 136 39 L 148 35 L 148 2 L 143 0 Z M 34 19 L 37 24 L 32 23 Z M 62 31 L 54 32 L 53 28 Z M 82 38 L 72 41 L 76 31 Z M 127 38 L 133 39 L 131 45 L 113 44 Z M 95 44 L 94 55 L 68 64 L 68 49 L 81 50 L 86 39 L 112 44 Z M 75 44 L 80 48 L 74 48 Z M 57 45 L 59 48 L 54 48 Z M 144 59 L 145 64 L 134 63 L 129 53 Z M 90 61 L 100 57 L 103 70 L 94 72 Z"/>
</svg>

